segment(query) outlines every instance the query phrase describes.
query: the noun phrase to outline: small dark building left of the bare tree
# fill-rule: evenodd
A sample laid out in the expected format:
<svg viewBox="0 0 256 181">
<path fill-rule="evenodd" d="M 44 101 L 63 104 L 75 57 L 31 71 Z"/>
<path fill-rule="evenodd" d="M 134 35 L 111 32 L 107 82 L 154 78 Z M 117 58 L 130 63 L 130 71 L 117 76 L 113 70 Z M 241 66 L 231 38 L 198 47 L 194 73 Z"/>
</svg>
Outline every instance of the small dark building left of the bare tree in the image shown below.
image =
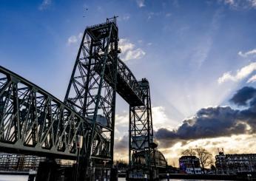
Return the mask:
<svg viewBox="0 0 256 181">
<path fill-rule="evenodd" d="M 202 174 L 200 161 L 195 156 L 182 156 L 179 158 L 180 171 L 185 174 Z"/>
</svg>

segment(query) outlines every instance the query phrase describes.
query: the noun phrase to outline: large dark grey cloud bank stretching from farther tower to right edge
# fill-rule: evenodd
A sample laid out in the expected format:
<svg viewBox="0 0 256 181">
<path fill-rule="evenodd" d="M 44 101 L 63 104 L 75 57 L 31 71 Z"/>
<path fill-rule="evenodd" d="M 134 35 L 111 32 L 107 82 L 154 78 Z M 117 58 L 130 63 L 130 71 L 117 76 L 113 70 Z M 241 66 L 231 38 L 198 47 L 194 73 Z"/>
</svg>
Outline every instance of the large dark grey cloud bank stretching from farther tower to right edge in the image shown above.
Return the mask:
<svg viewBox="0 0 256 181">
<path fill-rule="evenodd" d="M 183 120 L 182 125 L 177 130 L 158 129 L 155 132 L 155 137 L 160 146 L 169 147 L 177 141 L 255 132 L 256 89 L 243 87 L 238 90 L 230 101 L 238 106 L 247 107 L 243 110 L 235 110 L 229 106 L 201 109 L 195 117 Z"/>
</svg>

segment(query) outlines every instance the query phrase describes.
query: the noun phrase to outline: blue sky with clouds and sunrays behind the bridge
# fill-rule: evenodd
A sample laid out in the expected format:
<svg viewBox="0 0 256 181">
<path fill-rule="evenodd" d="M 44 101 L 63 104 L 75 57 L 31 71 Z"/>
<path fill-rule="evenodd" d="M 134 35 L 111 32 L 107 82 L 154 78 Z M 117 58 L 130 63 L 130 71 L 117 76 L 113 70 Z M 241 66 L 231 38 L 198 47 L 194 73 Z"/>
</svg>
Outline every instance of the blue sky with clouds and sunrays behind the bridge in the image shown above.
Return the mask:
<svg viewBox="0 0 256 181">
<path fill-rule="evenodd" d="M 0 65 L 60 100 L 84 29 L 118 16 L 120 58 L 149 80 L 155 140 L 169 164 L 195 146 L 256 150 L 255 0 L 0 4 Z M 118 96 L 115 159 L 128 157 L 128 109 Z"/>
</svg>

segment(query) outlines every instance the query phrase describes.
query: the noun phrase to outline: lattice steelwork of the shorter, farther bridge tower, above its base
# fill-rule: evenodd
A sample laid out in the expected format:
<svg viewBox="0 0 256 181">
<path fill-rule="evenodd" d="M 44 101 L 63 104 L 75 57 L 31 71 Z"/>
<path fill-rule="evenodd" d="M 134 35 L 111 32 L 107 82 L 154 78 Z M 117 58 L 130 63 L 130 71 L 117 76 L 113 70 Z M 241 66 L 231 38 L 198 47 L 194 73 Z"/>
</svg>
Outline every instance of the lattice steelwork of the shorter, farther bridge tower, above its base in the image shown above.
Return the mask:
<svg viewBox="0 0 256 181">
<path fill-rule="evenodd" d="M 149 91 L 149 82 L 146 78 L 138 82 L 144 92 L 144 105 L 129 107 L 129 165 L 138 163 L 135 155 L 144 154 L 144 165 L 150 167 L 154 163 L 150 156 L 153 143 L 152 112 Z"/>
</svg>

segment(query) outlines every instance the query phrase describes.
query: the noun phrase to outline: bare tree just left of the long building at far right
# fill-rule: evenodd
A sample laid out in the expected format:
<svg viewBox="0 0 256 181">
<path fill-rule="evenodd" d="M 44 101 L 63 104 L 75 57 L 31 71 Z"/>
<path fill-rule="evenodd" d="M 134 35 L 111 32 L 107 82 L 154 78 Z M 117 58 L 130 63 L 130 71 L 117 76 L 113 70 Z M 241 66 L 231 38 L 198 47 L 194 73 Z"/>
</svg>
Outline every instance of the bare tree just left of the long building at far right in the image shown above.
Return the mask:
<svg viewBox="0 0 256 181">
<path fill-rule="evenodd" d="M 205 168 L 213 163 L 212 154 L 202 147 L 195 148 L 195 152 L 203 168 L 203 174 L 205 174 Z"/>
</svg>

